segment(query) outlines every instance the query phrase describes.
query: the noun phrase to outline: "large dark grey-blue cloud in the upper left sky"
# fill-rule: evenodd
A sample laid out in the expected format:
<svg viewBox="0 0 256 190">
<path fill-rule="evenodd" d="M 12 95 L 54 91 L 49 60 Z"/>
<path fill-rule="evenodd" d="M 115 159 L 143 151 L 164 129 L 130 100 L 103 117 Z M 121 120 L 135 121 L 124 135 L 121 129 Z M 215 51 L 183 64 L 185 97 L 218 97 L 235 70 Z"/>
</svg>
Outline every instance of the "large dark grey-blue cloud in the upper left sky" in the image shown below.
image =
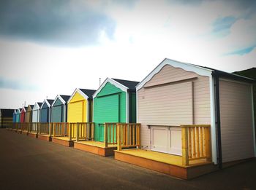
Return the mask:
<svg viewBox="0 0 256 190">
<path fill-rule="evenodd" d="M 97 44 L 99 33 L 113 38 L 116 23 L 83 1 L 0 1 L 0 35 L 64 46 Z"/>
</svg>

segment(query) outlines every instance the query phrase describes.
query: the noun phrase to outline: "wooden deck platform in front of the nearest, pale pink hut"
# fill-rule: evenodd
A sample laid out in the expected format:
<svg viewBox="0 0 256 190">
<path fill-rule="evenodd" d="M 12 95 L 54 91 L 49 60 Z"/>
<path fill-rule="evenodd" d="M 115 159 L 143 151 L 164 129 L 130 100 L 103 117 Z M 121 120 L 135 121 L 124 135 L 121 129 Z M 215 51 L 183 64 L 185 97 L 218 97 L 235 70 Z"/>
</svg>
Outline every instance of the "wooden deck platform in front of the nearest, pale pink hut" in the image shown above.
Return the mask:
<svg viewBox="0 0 256 190">
<path fill-rule="evenodd" d="M 141 149 L 115 151 L 115 159 L 183 179 L 195 178 L 217 170 L 217 166 L 203 159 L 195 160 L 186 166 L 182 164 L 180 156 Z"/>
</svg>

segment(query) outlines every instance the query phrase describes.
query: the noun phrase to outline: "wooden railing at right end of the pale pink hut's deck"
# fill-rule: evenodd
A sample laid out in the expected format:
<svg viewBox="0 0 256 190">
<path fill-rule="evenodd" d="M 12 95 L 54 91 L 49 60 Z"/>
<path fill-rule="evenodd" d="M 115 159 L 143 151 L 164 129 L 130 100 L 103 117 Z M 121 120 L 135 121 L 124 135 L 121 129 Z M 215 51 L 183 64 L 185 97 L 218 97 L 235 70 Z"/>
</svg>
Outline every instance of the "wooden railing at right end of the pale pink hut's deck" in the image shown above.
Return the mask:
<svg viewBox="0 0 256 190">
<path fill-rule="evenodd" d="M 210 128 L 209 124 L 181 125 L 183 165 L 195 159 L 211 161 Z"/>
</svg>

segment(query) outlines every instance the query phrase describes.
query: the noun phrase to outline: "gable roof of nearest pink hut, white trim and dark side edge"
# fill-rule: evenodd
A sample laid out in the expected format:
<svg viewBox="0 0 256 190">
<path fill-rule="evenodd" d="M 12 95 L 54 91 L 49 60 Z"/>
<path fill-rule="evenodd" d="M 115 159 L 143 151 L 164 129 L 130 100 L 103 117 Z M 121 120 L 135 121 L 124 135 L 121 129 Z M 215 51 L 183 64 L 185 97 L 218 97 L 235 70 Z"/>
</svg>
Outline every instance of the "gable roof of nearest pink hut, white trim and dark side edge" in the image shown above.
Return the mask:
<svg viewBox="0 0 256 190">
<path fill-rule="evenodd" d="M 146 84 L 146 82 L 148 82 L 155 74 L 157 74 L 166 65 L 170 65 L 170 66 L 173 66 L 175 68 L 182 68 L 185 71 L 192 71 L 192 72 L 195 72 L 196 74 L 199 74 L 201 76 L 217 76 L 217 77 L 223 77 L 223 78 L 238 80 L 238 81 L 242 81 L 242 82 L 249 82 L 249 83 L 255 82 L 255 80 L 246 78 L 244 76 L 238 76 L 236 74 L 230 74 L 230 73 L 227 73 L 225 71 L 219 71 L 219 70 L 214 69 L 214 68 L 197 66 L 197 65 L 194 65 L 194 64 L 191 64 L 191 63 L 182 63 L 182 62 L 179 62 L 179 61 L 176 61 L 176 60 L 171 60 L 171 59 L 165 58 L 164 60 L 162 60 L 161 63 L 159 63 L 159 65 L 156 68 L 154 68 L 153 71 L 151 71 L 151 73 L 149 73 L 136 86 L 136 90 L 140 90 L 140 88 L 142 88 L 144 86 L 144 84 Z"/>
</svg>

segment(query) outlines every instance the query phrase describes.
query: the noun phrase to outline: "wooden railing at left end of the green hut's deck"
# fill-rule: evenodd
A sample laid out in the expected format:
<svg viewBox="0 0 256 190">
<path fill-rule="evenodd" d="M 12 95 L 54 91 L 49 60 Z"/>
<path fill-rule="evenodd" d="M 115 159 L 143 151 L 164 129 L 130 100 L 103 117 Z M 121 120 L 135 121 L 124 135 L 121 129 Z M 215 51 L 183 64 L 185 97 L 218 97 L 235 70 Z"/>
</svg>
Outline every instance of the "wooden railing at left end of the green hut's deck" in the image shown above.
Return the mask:
<svg viewBox="0 0 256 190">
<path fill-rule="evenodd" d="M 77 123 L 76 140 L 94 140 L 94 123 Z"/>
</svg>

